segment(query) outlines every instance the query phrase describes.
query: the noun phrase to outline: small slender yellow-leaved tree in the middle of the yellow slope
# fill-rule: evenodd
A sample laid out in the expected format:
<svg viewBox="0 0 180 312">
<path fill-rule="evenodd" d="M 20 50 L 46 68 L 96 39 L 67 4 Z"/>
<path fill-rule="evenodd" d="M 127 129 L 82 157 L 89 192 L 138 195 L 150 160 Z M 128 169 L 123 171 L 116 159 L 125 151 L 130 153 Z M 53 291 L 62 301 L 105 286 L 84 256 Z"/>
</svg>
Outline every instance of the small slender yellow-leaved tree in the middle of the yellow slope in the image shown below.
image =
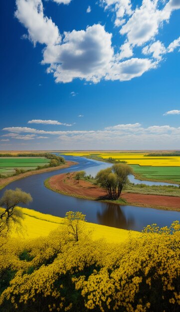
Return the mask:
<svg viewBox="0 0 180 312">
<path fill-rule="evenodd" d="M 72 237 L 75 242 L 78 242 L 79 236 L 85 230 L 85 219 L 86 215 L 82 214 L 79 211 L 73 212 L 68 211 L 66 212 L 65 216 L 65 226 L 68 235 Z"/>
</svg>

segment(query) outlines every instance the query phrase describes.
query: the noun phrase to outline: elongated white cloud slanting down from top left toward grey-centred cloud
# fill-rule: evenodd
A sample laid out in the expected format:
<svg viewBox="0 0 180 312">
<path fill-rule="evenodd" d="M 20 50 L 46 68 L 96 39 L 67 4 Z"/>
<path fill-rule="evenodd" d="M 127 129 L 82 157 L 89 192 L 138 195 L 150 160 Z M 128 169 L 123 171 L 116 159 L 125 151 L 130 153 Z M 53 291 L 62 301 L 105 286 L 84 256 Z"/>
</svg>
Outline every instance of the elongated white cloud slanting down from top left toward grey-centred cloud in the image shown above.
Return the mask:
<svg viewBox="0 0 180 312">
<path fill-rule="evenodd" d="M 28 38 L 36 42 L 57 44 L 61 41 L 58 27 L 44 16 L 41 0 L 16 0 L 15 16 L 27 28 Z"/>
</svg>

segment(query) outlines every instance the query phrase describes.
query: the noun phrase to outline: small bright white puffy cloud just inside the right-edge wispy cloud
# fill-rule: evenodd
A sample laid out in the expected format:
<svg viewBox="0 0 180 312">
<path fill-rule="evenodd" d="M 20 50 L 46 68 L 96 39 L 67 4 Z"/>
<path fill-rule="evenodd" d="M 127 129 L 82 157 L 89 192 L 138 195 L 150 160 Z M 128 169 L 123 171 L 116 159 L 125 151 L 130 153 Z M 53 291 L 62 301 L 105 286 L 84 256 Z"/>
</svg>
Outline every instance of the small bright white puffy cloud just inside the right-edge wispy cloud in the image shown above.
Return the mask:
<svg viewBox="0 0 180 312">
<path fill-rule="evenodd" d="M 154 58 L 161 60 L 162 55 L 167 52 L 167 49 L 165 48 L 164 44 L 158 40 L 150 45 L 145 46 L 142 52 L 146 55 L 153 54 Z"/>
</svg>

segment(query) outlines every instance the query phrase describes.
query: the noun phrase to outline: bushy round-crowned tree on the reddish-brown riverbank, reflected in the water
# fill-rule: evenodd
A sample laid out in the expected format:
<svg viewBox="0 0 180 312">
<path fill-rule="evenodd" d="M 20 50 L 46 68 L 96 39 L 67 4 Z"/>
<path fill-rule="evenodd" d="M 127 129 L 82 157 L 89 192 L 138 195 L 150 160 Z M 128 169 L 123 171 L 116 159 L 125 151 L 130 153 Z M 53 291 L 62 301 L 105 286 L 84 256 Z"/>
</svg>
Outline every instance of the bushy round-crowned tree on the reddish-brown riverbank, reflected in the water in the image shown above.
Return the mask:
<svg viewBox="0 0 180 312">
<path fill-rule="evenodd" d="M 110 197 L 116 200 L 128 183 L 129 174 L 133 174 L 133 169 L 128 164 L 116 163 L 110 168 L 100 170 L 96 179 L 97 183 L 107 189 Z"/>
</svg>

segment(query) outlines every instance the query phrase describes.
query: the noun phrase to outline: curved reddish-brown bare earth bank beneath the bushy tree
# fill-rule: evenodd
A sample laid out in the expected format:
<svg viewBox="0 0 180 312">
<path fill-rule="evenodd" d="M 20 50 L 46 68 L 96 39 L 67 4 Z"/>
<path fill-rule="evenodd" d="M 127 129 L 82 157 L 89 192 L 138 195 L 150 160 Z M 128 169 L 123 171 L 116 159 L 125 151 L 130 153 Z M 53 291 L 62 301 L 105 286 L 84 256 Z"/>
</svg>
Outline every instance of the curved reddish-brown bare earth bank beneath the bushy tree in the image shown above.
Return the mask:
<svg viewBox="0 0 180 312">
<path fill-rule="evenodd" d="M 180 197 L 175 196 L 123 192 L 119 200 L 112 201 L 108 198 L 107 192 L 103 188 L 86 180 L 75 180 L 74 172 L 54 175 L 45 180 L 44 185 L 55 192 L 78 198 L 180 211 Z"/>
</svg>

